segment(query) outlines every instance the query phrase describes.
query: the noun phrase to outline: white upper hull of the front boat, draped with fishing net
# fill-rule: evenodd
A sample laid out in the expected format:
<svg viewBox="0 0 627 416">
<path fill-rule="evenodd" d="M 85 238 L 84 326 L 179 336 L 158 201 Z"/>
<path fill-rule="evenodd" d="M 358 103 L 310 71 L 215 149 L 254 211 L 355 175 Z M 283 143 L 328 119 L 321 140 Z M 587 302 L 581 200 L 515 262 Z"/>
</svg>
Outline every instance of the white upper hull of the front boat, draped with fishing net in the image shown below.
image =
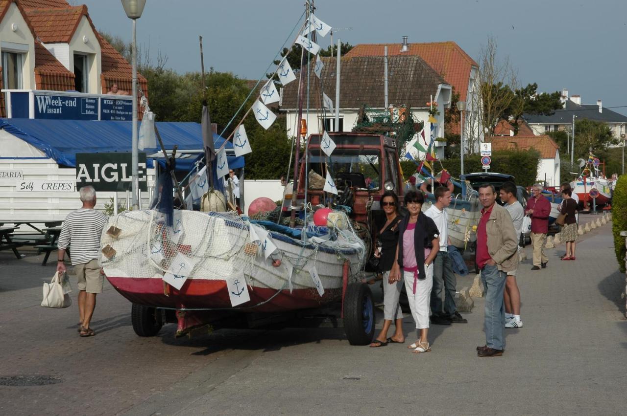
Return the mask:
<svg viewBox="0 0 627 416">
<path fill-rule="evenodd" d="M 309 271 L 317 268 L 323 283 L 337 287 L 345 260 L 357 279 L 366 247 L 345 213 L 334 228 L 302 230 L 269 221 L 249 220 L 234 212 L 174 211 L 173 225 L 155 210 L 125 211 L 112 216 L 102 234 L 101 264 L 107 275 L 134 278 L 176 277 L 226 280 L 243 275 L 249 285 L 287 288 L 288 273 L 277 260 L 293 265 L 294 288 L 311 287 Z M 257 230 L 251 238 L 251 229 Z M 254 233 L 255 231 L 253 231 Z M 262 236 L 257 236 L 258 234 Z M 269 236 L 268 253 L 263 240 Z M 255 237 L 257 240 L 255 240 Z M 261 239 L 261 241 L 259 240 Z M 107 246 L 112 250 L 107 250 Z M 182 267 L 182 264 L 185 264 Z M 275 265 L 273 265 L 275 263 Z"/>
</svg>

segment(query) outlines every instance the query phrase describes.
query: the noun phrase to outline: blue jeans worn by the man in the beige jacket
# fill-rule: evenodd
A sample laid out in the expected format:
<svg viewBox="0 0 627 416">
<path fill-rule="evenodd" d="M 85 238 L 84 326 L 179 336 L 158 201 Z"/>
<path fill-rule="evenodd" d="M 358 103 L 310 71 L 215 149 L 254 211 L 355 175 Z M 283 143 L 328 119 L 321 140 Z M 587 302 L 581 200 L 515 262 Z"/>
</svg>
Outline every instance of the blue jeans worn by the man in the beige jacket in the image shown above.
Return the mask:
<svg viewBox="0 0 627 416">
<path fill-rule="evenodd" d="M 497 266 L 485 265 L 481 271 L 485 287 L 485 343 L 495 350 L 505 349 L 503 290 L 506 277 L 507 273 L 499 271 Z"/>
</svg>

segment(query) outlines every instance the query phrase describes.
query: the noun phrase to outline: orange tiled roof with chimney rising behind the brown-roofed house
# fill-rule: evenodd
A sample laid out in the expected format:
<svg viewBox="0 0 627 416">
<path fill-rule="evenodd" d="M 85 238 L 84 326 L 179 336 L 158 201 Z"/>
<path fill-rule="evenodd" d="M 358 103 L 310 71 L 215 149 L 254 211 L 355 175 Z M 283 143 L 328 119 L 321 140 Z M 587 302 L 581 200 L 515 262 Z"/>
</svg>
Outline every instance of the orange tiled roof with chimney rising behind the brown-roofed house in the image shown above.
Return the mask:
<svg viewBox="0 0 627 416">
<path fill-rule="evenodd" d="M 418 55 L 431 68 L 443 76 L 448 84 L 455 87 L 460 94 L 460 101 L 466 101 L 470 69 L 477 63 L 453 41 L 433 43 L 410 43 L 408 52 L 401 52 L 400 43 L 362 43 L 354 46 L 345 56 L 383 56 L 387 46 L 387 54 Z"/>
</svg>

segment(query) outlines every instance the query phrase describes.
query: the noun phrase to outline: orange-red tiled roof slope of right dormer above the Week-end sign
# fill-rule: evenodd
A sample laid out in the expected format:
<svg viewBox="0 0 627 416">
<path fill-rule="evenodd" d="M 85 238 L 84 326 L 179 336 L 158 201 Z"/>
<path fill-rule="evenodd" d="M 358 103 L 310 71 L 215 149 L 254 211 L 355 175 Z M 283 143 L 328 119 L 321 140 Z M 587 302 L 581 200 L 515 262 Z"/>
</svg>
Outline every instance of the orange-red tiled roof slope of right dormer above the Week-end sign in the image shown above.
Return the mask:
<svg viewBox="0 0 627 416">
<path fill-rule="evenodd" d="M 37 37 L 43 43 L 70 43 L 87 6 L 55 9 L 24 9 Z"/>
</svg>

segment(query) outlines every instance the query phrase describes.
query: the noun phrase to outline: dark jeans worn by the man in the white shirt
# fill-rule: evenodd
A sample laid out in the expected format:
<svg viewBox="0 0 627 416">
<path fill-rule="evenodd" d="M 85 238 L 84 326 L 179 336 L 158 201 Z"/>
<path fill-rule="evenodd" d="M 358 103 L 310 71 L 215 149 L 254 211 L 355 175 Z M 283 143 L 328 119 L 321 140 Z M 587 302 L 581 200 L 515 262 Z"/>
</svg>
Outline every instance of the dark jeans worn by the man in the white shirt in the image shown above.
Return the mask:
<svg viewBox="0 0 627 416">
<path fill-rule="evenodd" d="M 431 290 L 431 312 L 436 317 L 452 318 L 457 312 L 455 292 L 457 278 L 453 273 L 453 261 L 446 251 L 439 251 L 433 261 L 433 289 Z M 444 297 L 444 308 L 442 298 Z"/>
</svg>

